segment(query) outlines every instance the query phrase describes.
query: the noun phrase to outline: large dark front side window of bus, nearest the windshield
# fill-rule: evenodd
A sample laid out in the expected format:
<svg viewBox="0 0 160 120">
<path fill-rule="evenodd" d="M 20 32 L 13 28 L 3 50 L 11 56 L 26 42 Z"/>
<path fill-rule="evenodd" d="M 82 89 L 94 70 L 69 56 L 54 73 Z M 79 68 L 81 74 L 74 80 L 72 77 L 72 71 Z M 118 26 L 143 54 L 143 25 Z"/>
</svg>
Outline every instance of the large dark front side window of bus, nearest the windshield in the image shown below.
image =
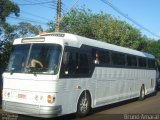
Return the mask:
<svg viewBox="0 0 160 120">
<path fill-rule="evenodd" d="M 89 59 L 86 53 L 64 52 L 61 64 L 61 76 L 88 75 Z"/>
</svg>

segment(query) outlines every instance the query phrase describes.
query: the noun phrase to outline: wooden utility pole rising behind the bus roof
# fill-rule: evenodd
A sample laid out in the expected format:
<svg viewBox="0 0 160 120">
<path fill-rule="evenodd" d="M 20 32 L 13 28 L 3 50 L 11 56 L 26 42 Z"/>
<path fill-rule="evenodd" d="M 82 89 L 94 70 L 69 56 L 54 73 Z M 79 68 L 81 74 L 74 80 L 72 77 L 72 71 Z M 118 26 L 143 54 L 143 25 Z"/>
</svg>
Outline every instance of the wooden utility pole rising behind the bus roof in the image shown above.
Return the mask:
<svg viewBox="0 0 160 120">
<path fill-rule="evenodd" d="M 60 19 L 61 19 L 61 0 L 57 0 L 57 17 L 56 17 L 56 32 L 60 30 Z"/>
</svg>

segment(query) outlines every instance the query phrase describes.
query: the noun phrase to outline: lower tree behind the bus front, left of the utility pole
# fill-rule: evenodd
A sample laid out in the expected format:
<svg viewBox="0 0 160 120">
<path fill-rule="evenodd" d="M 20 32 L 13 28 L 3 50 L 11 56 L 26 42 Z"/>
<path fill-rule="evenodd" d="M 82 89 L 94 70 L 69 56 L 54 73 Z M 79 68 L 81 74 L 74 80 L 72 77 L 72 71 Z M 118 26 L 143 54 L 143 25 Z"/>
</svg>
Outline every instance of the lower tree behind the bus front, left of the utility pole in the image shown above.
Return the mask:
<svg viewBox="0 0 160 120">
<path fill-rule="evenodd" d="M 0 43 L 0 67 L 5 68 L 10 56 L 12 42 L 19 37 L 35 36 L 43 31 L 41 26 L 35 26 L 30 23 L 21 22 L 18 25 L 10 26 L 6 24 L 5 34 L 1 35 L 3 39 Z"/>
</svg>

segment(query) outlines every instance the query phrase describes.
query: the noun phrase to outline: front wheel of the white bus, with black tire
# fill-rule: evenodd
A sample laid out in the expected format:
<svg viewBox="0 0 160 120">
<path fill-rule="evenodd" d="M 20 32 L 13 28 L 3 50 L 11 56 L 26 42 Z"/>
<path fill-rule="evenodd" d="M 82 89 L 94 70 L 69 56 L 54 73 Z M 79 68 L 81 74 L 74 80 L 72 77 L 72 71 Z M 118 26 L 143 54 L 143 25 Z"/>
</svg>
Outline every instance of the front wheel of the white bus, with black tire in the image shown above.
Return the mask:
<svg viewBox="0 0 160 120">
<path fill-rule="evenodd" d="M 84 117 L 91 110 L 91 98 L 88 92 L 83 92 L 77 104 L 77 117 Z"/>
</svg>

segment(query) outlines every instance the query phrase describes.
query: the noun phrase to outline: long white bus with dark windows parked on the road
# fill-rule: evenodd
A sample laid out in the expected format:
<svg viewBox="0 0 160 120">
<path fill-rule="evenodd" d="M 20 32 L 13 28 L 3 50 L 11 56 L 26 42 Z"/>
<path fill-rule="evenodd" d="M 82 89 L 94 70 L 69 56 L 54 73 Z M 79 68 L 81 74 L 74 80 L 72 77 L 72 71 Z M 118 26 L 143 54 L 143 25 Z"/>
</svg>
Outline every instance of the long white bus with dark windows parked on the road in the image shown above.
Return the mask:
<svg viewBox="0 0 160 120">
<path fill-rule="evenodd" d="M 3 110 L 38 117 L 69 113 L 155 91 L 155 57 L 68 33 L 13 43 L 3 74 Z"/>
</svg>

